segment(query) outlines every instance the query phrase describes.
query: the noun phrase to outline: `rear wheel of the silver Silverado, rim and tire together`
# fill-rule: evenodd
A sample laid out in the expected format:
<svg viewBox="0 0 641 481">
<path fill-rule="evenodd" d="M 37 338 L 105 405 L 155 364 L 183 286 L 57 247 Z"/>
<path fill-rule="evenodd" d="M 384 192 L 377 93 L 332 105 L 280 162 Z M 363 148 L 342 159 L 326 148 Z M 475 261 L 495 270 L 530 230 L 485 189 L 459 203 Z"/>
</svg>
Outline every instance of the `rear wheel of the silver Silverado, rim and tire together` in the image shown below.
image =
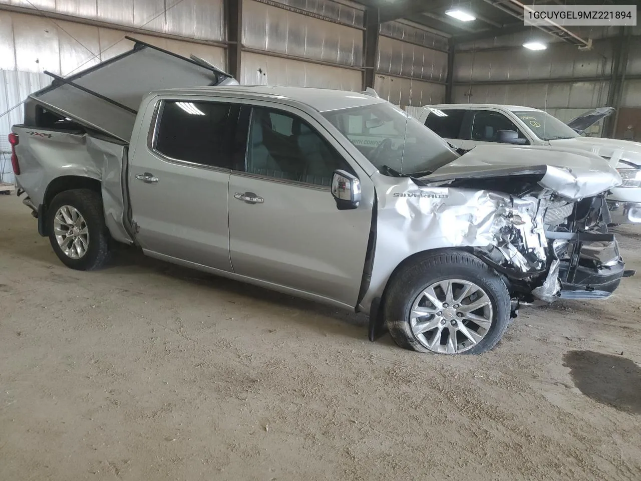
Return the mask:
<svg viewBox="0 0 641 481">
<path fill-rule="evenodd" d="M 60 192 L 47 208 L 46 225 L 51 247 L 65 266 L 92 271 L 107 262 L 109 232 L 104 223 L 103 201 L 97 192 Z"/>
</svg>

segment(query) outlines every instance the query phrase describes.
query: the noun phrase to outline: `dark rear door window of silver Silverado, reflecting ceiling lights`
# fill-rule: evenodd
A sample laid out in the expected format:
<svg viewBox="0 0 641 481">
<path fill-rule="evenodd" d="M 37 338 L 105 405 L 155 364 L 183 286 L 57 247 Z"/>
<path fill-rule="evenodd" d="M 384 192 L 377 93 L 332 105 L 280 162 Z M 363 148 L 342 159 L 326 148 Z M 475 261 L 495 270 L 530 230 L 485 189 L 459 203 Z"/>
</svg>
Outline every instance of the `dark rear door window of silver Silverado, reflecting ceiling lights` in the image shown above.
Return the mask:
<svg viewBox="0 0 641 481">
<path fill-rule="evenodd" d="M 240 106 L 163 101 L 153 149 L 173 160 L 232 168 Z"/>
</svg>

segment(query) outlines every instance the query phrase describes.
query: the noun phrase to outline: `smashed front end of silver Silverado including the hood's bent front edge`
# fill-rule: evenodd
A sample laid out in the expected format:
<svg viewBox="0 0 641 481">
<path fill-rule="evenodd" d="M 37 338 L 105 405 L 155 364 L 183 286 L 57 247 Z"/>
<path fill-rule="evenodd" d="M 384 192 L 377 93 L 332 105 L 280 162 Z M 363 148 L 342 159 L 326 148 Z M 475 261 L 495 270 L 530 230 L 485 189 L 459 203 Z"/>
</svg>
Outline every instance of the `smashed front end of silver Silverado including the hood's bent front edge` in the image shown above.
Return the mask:
<svg viewBox="0 0 641 481">
<path fill-rule="evenodd" d="M 558 298 L 608 298 L 622 277 L 634 274 L 624 269 L 607 228 L 605 198 L 619 181 L 615 174 L 542 165 L 422 180 L 491 193 L 496 205 L 492 242 L 472 250 L 503 275 L 513 309 Z"/>
</svg>

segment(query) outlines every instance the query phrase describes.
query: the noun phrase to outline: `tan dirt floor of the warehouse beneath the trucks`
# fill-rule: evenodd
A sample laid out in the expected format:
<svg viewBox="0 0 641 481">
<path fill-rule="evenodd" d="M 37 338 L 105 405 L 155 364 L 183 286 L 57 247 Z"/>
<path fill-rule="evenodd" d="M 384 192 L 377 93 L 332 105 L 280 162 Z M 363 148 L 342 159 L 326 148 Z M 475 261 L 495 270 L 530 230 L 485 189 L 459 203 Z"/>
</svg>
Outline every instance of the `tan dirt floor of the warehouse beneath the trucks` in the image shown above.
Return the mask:
<svg viewBox="0 0 641 481">
<path fill-rule="evenodd" d="M 15 195 L 0 222 L 2 481 L 641 480 L 641 275 L 447 357 L 137 253 L 72 271 Z"/>
</svg>

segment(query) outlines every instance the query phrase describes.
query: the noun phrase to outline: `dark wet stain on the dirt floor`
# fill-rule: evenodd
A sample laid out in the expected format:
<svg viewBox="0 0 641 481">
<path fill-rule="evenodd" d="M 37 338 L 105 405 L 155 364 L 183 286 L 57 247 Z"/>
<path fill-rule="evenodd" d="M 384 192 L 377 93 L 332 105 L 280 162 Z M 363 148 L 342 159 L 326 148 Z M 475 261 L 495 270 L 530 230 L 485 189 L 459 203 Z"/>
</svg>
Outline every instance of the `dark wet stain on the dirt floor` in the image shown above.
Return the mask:
<svg viewBox="0 0 641 481">
<path fill-rule="evenodd" d="M 615 409 L 641 414 L 641 367 L 620 355 L 568 351 L 563 366 L 588 398 Z"/>
</svg>

